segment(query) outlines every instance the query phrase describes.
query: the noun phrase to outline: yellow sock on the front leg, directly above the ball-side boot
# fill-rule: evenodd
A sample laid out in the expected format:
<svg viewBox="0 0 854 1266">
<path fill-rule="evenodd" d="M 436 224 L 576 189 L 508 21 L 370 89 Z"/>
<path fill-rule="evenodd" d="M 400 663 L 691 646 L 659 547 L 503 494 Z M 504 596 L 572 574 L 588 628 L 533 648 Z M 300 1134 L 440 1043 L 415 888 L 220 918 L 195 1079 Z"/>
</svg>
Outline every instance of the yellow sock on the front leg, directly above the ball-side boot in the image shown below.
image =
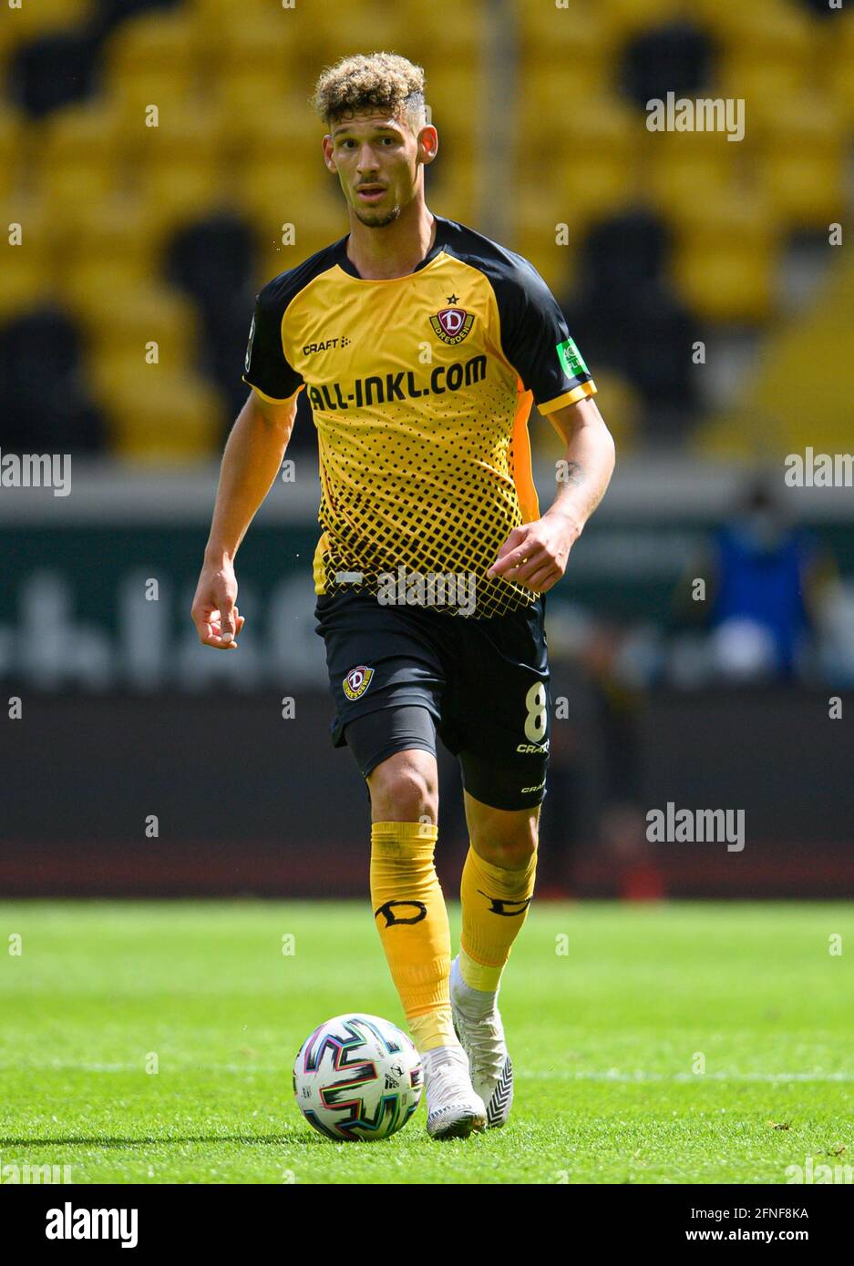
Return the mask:
<svg viewBox="0 0 854 1266">
<path fill-rule="evenodd" d="M 433 866 L 438 827 L 371 823 L 371 905 L 419 1051 L 459 1046 L 451 1019 L 451 933 Z"/>
</svg>

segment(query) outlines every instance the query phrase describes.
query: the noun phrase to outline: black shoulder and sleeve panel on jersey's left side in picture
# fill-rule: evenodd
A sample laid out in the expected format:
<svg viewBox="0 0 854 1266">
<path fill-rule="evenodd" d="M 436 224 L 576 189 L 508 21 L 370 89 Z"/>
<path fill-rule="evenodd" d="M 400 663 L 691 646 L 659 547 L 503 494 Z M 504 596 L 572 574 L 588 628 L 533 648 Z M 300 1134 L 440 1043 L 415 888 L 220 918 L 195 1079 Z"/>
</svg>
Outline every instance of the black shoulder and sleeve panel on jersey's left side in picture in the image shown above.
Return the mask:
<svg viewBox="0 0 854 1266">
<path fill-rule="evenodd" d="M 285 309 L 309 281 L 336 265 L 345 242 L 346 238 L 341 238 L 310 254 L 295 268 L 280 272 L 255 296 L 255 314 L 250 327 L 242 377 L 243 382 L 257 387 L 274 400 L 286 400 L 303 382 L 302 375 L 289 365 L 281 346 L 281 320 Z"/>
</svg>

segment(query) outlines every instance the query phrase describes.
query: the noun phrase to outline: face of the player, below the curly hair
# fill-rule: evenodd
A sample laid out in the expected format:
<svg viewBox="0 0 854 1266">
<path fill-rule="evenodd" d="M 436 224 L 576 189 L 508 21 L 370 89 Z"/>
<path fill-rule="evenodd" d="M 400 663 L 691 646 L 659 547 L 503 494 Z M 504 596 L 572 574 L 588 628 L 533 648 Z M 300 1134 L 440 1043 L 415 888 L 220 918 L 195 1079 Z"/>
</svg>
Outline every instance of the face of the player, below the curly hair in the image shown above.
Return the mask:
<svg viewBox="0 0 854 1266">
<path fill-rule="evenodd" d="M 324 137 L 327 166 L 337 172 L 343 195 L 362 224 L 383 228 L 412 201 L 419 166 L 426 161 L 422 138 L 431 132 L 423 128 L 416 135 L 405 120 L 378 113 L 342 120 Z"/>
</svg>

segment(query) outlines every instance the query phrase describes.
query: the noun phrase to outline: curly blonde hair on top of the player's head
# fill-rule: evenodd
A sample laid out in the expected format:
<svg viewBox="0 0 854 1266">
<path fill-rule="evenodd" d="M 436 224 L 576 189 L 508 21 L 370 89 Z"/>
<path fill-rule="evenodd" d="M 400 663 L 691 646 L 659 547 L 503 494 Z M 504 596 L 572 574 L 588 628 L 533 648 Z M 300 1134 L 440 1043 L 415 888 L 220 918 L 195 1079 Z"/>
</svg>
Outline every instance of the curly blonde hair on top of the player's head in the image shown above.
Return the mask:
<svg viewBox="0 0 854 1266">
<path fill-rule="evenodd" d="M 404 114 L 424 123 L 424 71 L 398 53 L 356 53 L 327 66 L 314 87 L 314 109 L 327 127 L 362 110 Z"/>
</svg>

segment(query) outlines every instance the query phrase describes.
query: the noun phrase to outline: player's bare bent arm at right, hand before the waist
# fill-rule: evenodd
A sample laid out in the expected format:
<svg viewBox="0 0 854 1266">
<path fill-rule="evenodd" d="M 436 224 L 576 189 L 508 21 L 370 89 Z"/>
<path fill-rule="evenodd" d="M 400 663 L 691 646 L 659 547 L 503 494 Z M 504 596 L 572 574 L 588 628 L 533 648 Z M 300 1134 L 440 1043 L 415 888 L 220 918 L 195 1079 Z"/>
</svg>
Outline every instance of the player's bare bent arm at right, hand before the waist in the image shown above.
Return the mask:
<svg viewBox="0 0 854 1266">
<path fill-rule="evenodd" d="M 547 417 L 566 444 L 558 494 L 540 519 L 513 528 L 487 572 L 537 594 L 547 592 L 566 571 L 569 551 L 604 496 L 616 461 L 613 438 L 592 396 Z"/>
</svg>

